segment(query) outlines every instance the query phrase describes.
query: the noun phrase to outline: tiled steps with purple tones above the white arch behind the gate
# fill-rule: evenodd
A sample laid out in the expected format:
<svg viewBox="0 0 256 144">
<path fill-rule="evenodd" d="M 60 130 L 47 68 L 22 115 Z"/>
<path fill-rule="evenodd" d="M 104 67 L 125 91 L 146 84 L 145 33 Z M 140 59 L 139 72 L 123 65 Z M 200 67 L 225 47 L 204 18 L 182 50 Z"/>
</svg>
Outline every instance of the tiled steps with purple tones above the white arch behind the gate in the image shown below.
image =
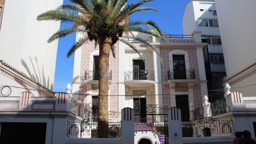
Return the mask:
<svg viewBox="0 0 256 144">
<path fill-rule="evenodd" d="M 151 123 L 134 123 L 134 131 L 152 131 L 155 132 L 155 127 Z M 157 133 L 158 139 L 161 144 L 164 144 L 165 140 L 168 141 L 168 138 L 161 133 Z"/>
</svg>

